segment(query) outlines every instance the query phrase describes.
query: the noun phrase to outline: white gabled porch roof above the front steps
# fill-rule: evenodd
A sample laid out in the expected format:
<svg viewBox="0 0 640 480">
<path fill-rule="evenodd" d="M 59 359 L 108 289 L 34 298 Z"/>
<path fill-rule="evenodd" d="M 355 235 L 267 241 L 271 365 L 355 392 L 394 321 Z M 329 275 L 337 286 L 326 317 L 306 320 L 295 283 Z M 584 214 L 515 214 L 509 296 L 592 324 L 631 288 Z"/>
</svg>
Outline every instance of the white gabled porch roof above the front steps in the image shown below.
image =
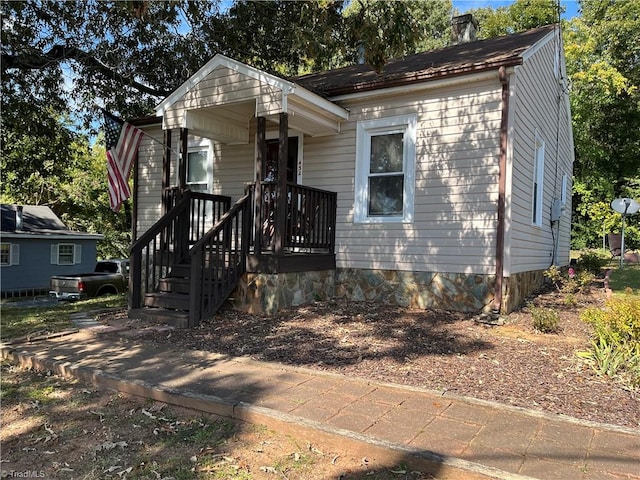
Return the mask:
<svg viewBox="0 0 640 480">
<path fill-rule="evenodd" d="M 249 122 L 264 116 L 278 122 L 289 114 L 289 127 L 311 136 L 340 131 L 347 110 L 300 85 L 216 55 L 165 98 L 156 115 L 163 128 L 188 128 L 223 143 L 248 143 Z"/>
</svg>

